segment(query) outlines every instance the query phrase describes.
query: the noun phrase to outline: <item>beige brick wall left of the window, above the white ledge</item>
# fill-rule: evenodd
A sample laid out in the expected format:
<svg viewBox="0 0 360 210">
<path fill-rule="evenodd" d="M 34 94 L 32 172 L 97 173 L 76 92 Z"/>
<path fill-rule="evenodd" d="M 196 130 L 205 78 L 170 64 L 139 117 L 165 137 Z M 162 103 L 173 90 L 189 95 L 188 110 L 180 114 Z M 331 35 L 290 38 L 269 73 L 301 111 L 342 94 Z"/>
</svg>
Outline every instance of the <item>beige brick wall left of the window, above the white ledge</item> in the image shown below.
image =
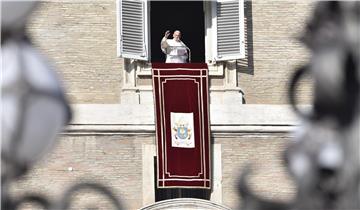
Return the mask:
<svg viewBox="0 0 360 210">
<path fill-rule="evenodd" d="M 72 103 L 120 103 L 116 1 L 42 2 L 29 32 L 55 64 Z"/>
</svg>

